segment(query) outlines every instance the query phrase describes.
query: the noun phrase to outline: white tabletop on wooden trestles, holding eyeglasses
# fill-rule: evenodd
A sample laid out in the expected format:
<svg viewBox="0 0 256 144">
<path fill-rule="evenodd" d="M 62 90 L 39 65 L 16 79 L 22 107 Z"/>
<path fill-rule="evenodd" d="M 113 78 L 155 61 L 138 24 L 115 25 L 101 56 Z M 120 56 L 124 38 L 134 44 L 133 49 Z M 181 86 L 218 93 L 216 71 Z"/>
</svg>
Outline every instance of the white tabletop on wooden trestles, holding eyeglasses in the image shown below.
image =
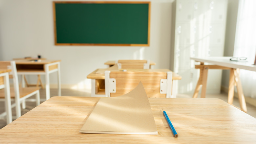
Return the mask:
<svg viewBox="0 0 256 144">
<path fill-rule="evenodd" d="M 191 57 L 191 60 L 195 60 L 197 62 L 204 62 L 204 63 L 212 63 L 215 65 L 230 67 L 230 68 L 240 68 L 250 71 L 256 71 L 256 65 L 252 65 L 252 63 L 248 62 L 235 62 L 230 61 L 231 57 L 204 57 L 204 58 L 197 58 Z"/>
</svg>

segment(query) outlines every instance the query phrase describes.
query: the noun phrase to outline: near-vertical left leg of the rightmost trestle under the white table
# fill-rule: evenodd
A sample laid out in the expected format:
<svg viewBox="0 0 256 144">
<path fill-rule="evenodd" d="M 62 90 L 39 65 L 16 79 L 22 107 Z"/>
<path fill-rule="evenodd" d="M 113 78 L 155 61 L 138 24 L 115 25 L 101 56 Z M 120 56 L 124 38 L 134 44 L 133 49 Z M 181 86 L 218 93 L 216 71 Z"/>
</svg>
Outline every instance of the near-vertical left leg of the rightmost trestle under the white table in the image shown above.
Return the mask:
<svg viewBox="0 0 256 144">
<path fill-rule="evenodd" d="M 228 99 L 227 103 L 232 104 L 234 99 L 234 85 L 235 85 L 235 75 L 233 68 L 230 69 L 229 73 L 229 86 L 228 86 Z"/>
</svg>

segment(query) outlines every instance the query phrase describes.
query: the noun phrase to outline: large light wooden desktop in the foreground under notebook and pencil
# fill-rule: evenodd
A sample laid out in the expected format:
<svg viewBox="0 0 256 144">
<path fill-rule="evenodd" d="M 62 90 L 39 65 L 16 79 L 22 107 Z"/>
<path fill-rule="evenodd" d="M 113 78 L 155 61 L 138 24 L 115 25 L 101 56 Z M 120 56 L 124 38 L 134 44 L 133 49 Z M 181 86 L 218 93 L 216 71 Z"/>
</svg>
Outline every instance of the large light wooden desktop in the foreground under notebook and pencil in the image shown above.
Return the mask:
<svg viewBox="0 0 256 144">
<path fill-rule="evenodd" d="M 99 98 L 52 97 L 0 130 L 1 143 L 242 144 L 256 141 L 256 119 L 220 99 L 149 98 L 158 135 L 82 134 Z M 168 114 L 178 138 L 162 113 Z"/>
</svg>

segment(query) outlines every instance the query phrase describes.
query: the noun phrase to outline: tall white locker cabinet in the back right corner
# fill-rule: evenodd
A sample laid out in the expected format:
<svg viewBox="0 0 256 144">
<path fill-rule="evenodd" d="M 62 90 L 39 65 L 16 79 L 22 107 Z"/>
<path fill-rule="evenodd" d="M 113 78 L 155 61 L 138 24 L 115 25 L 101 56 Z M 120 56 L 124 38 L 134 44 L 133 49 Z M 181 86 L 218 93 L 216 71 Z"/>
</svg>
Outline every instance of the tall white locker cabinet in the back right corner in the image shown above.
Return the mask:
<svg viewBox="0 0 256 144">
<path fill-rule="evenodd" d="M 181 75 L 178 93 L 194 92 L 199 78 L 190 57 L 223 56 L 227 0 L 176 0 L 171 51 L 173 70 Z M 209 70 L 207 93 L 219 93 L 222 70 Z"/>
</svg>

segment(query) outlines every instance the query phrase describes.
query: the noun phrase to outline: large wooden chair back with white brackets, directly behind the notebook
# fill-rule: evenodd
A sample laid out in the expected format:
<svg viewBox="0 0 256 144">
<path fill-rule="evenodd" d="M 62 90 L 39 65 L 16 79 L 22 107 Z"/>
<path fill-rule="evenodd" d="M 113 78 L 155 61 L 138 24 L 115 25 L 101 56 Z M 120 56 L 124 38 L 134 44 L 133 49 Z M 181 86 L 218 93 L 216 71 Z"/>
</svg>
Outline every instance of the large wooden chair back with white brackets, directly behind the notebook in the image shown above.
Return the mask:
<svg viewBox="0 0 256 144">
<path fill-rule="evenodd" d="M 105 95 L 117 97 L 142 82 L 149 98 L 171 98 L 172 72 L 105 71 Z"/>
</svg>

